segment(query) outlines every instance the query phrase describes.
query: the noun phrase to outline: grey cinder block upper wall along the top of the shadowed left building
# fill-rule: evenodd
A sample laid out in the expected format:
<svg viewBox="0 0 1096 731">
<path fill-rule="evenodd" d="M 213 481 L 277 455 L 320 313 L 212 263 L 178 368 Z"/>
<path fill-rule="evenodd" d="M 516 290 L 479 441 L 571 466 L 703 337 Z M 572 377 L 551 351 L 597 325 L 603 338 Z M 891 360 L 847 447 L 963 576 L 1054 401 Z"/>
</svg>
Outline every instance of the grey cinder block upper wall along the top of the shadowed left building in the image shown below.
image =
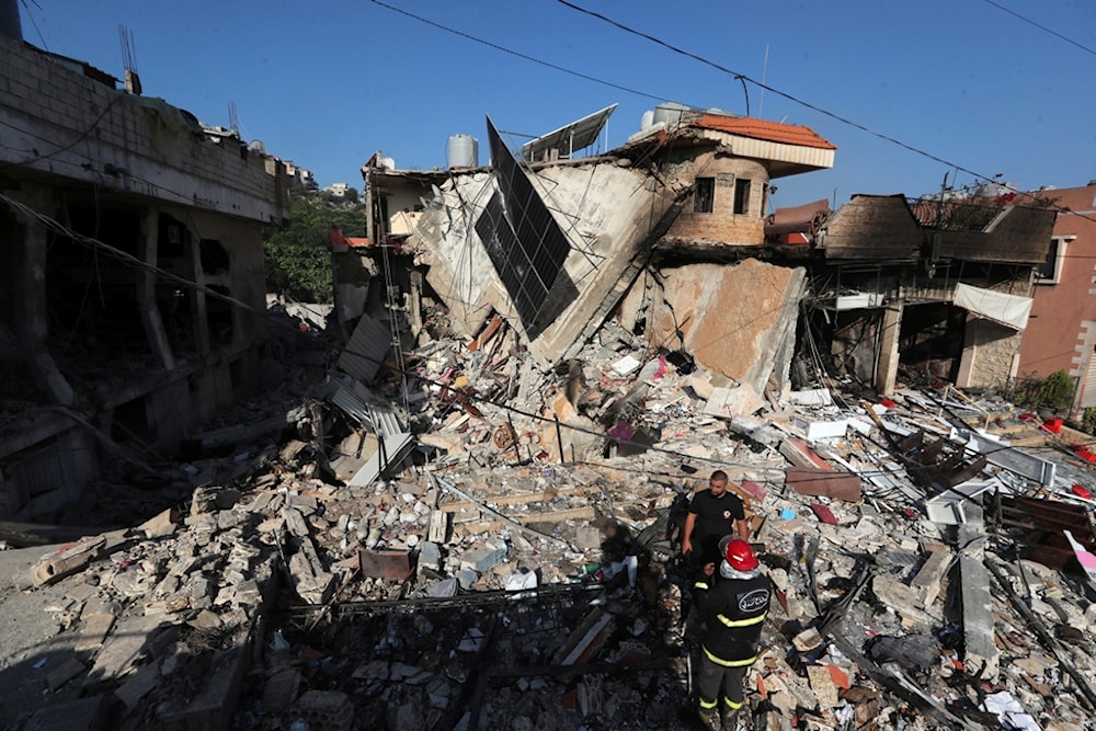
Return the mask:
<svg viewBox="0 0 1096 731">
<path fill-rule="evenodd" d="M 286 215 L 283 165 L 210 141 L 163 100 L 112 89 L 8 37 L 0 122 L 0 164 L 262 221 Z"/>
</svg>

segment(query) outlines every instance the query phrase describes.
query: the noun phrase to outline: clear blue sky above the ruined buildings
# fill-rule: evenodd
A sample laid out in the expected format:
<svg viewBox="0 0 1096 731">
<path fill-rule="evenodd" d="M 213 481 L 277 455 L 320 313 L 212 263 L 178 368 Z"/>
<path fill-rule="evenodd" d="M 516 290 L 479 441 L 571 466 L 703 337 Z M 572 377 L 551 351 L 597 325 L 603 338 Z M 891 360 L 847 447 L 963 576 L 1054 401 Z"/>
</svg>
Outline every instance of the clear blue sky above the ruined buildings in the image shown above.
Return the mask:
<svg viewBox="0 0 1096 731">
<path fill-rule="evenodd" d="M 777 181 L 777 206 L 918 195 L 945 174 L 961 186 L 1000 173 L 1023 190 L 1096 179 L 1092 0 L 569 0 L 743 75 L 745 91 L 559 0 L 385 1 L 404 12 L 372 0 L 20 4 L 28 42 L 119 78 L 124 25 L 146 95 L 213 125 L 235 104 L 246 139 L 321 185 L 361 189 L 378 149 L 399 168 L 444 167 L 455 134 L 478 138 L 486 164 L 487 115 L 537 135 L 618 103 L 612 148 L 660 101 L 744 115 L 747 100 L 752 116 L 837 146 L 833 170 Z"/>
</svg>

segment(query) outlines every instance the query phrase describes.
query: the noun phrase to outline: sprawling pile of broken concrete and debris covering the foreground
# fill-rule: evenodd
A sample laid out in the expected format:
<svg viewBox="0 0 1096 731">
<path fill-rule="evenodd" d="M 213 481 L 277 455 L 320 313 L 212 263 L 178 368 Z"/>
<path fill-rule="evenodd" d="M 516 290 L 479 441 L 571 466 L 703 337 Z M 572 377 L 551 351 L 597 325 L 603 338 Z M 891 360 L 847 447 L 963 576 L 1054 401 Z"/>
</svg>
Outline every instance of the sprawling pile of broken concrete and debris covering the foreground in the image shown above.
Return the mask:
<svg viewBox="0 0 1096 731">
<path fill-rule="evenodd" d="M 540 375 L 510 342 L 408 354 L 426 431 L 376 479 L 387 436 L 319 389 L 182 469 L 231 479 L 44 556 L 66 649 L 31 677 L 117 728 L 693 728 L 677 526 L 724 469 L 777 587 L 752 728 L 1093 728 L 1069 435 L 952 389 L 747 398 L 610 328 Z"/>
</svg>

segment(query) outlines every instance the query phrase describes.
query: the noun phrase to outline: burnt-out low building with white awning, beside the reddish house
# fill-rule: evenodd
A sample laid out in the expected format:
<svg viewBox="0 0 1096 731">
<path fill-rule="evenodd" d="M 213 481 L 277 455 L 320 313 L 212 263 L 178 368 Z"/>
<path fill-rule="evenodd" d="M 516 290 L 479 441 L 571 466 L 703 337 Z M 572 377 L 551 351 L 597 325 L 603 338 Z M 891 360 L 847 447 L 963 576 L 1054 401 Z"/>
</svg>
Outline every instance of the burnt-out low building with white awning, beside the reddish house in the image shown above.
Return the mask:
<svg viewBox="0 0 1096 731">
<path fill-rule="evenodd" d="M 960 388 L 1019 370 L 1055 212 L 1013 199 L 855 195 L 820 227 L 807 327 L 838 373 L 888 393 L 903 364 Z"/>
</svg>

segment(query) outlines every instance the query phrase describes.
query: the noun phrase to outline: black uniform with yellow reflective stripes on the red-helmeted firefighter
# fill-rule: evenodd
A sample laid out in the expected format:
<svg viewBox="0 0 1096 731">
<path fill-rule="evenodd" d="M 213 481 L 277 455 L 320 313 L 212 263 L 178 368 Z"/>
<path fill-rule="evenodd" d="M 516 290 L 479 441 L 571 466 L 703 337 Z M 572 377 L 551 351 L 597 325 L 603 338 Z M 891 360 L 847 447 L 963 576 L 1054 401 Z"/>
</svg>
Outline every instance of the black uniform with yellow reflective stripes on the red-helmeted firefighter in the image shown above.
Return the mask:
<svg viewBox="0 0 1096 731">
<path fill-rule="evenodd" d="M 724 567 L 720 567 L 719 574 Z M 746 669 L 757 660 L 757 642 L 773 596 L 773 582 L 767 575 L 756 571 L 731 573 L 749 578 L 713 576 L 715 585 L 697 596 L 704 620 L 697 673 L 701 710 L 716 708 L 720 686 L 729 711 L 742 707 L 742 682 Z"/>
</svg>

